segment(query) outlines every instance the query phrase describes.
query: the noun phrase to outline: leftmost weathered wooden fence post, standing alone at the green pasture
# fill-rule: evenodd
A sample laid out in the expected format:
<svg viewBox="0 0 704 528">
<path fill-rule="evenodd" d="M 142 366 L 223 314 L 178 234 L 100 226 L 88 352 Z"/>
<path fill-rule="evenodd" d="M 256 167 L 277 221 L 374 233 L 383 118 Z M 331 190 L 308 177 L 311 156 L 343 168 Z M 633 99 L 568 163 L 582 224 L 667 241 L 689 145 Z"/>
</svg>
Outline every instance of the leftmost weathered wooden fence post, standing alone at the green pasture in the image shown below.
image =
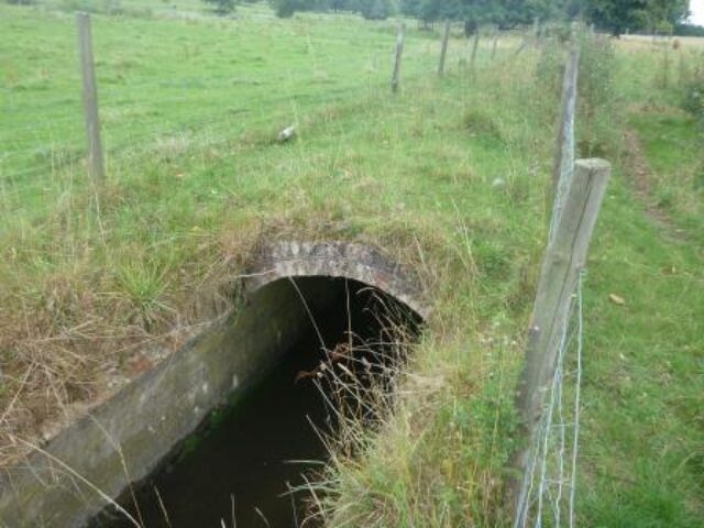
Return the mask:
<svg viewBox="0 0 704 528">
<path fill-rule="evenodd" d="M 106 173 L 102 160 L 102 142 L 100 141 L 100 118 L 98 117 L 98 90 L 96 88 L 96 70 L 92 59 L 90 14 L 76 13 L 76 25 L 78 26 L 78 50 L 84 85 L 84 113 L 86 116 L 90 173 L 94 182 L 100 184 L 105 179 Z"/>
</svg>

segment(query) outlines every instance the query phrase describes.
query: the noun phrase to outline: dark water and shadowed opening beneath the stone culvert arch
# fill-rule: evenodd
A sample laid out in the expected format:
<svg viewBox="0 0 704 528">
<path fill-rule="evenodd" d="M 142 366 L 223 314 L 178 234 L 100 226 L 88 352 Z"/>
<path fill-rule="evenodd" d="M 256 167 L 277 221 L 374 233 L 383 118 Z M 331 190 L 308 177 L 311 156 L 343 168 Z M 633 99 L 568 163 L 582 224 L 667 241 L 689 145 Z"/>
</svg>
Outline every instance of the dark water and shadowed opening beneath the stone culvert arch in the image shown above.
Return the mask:
<svg viewBox="0 0 704 528">
<path fill-rule="evenodd" d="M 338 413 L 344 408 L 369 427 L 375 416 L 365 400 L 391 397 L 420 317 L 355 280 L 280 280 L 301 298 L 307 328 L 297 342 L 283 344 L 280 362 L 243 399 L 213 413 L 158 471 L 124 494 L 120 503 L 144 528 L 301 526 L 311 496 L 292 488 L 320 471 L 323 438 L 339 428 Z M 331 302 L 310 298 L 321 286 L 332 290 Z M 91 526 L 134 525 L 103 513 Z"/>
</svg>

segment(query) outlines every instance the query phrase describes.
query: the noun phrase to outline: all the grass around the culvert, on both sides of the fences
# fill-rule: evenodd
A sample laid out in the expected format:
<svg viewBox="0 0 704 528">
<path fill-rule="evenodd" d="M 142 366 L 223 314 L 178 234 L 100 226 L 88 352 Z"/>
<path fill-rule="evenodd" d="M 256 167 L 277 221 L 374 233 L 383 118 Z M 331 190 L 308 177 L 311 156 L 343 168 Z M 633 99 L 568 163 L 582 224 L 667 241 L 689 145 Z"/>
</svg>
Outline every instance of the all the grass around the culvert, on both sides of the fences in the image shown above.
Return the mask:
<svg viewBox="0 0 704 528">
<path fill-rule="evenodd" d="M 0 431 L 47 438 L 177 348 L 230 306 L 262 237 L 363 241 L 418 270 L 435 314 L 387 426 L 330 470 L 331 525 L 498 525 L 561 53 L 512 40 L 492 61 L 486 43 L 469 72 L 458 35 L 440 80 L 437 35 L 410 31 L 394 97 L 392 21 L 165 6 L 94 19 L 95 194 L 72 6 L 0 4 Z M 580 155 L 615 175 L 585 290 L 581 526 L 704 517 L 702 135 L 660 52 L 583 54 Z"/>
</svg>

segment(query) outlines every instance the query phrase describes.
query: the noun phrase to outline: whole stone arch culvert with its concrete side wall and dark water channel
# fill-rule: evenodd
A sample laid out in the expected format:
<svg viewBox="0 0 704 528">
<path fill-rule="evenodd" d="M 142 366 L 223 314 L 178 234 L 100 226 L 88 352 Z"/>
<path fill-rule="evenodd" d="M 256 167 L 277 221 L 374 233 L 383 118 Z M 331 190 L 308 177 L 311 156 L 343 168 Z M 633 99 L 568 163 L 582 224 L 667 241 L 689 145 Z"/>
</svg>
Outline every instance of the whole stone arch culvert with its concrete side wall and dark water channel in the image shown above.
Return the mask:
<svg viewBox="0 0 704 528">
<path fill-rule="evenodd" d="M 320 365 L 394 372 L 389 331 L 417 337 L 429 314 L 413 277 L 367 245 L 264 244 L 240 306 L 0 473 L 0 526 L 221 526 L 233 508 L 295 526 L 295 461 L 324 460 L 334 428 Z"/>
</svg>

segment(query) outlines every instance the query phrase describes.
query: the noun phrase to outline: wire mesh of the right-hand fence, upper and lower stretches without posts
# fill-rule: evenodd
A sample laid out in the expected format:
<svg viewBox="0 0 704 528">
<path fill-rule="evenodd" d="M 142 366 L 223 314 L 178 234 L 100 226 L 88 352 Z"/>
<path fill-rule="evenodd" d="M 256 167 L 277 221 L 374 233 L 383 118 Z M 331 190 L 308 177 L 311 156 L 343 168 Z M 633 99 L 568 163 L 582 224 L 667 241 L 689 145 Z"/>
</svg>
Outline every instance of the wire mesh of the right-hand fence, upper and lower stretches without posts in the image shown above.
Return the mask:
<svg viewBox="0 0 704 528">
<path fill-rule="evenodd" d="M 554 202 L 548 244 L 554 239 L 564 212 L 565 193 L 574 177 L 579 58 L 580 51 L 575 45 L 564 68 L 562 112 L 553 174 Z M 584 344 L 584 277 L 585 271 L 582 270 L 568 317 L 560 329 L 554 370 L 552 378 L 544 387 L 544 407 L 534 431 L 528 462 L 524 469 L 514 528 L 575 526 Z"/>
</svg>

